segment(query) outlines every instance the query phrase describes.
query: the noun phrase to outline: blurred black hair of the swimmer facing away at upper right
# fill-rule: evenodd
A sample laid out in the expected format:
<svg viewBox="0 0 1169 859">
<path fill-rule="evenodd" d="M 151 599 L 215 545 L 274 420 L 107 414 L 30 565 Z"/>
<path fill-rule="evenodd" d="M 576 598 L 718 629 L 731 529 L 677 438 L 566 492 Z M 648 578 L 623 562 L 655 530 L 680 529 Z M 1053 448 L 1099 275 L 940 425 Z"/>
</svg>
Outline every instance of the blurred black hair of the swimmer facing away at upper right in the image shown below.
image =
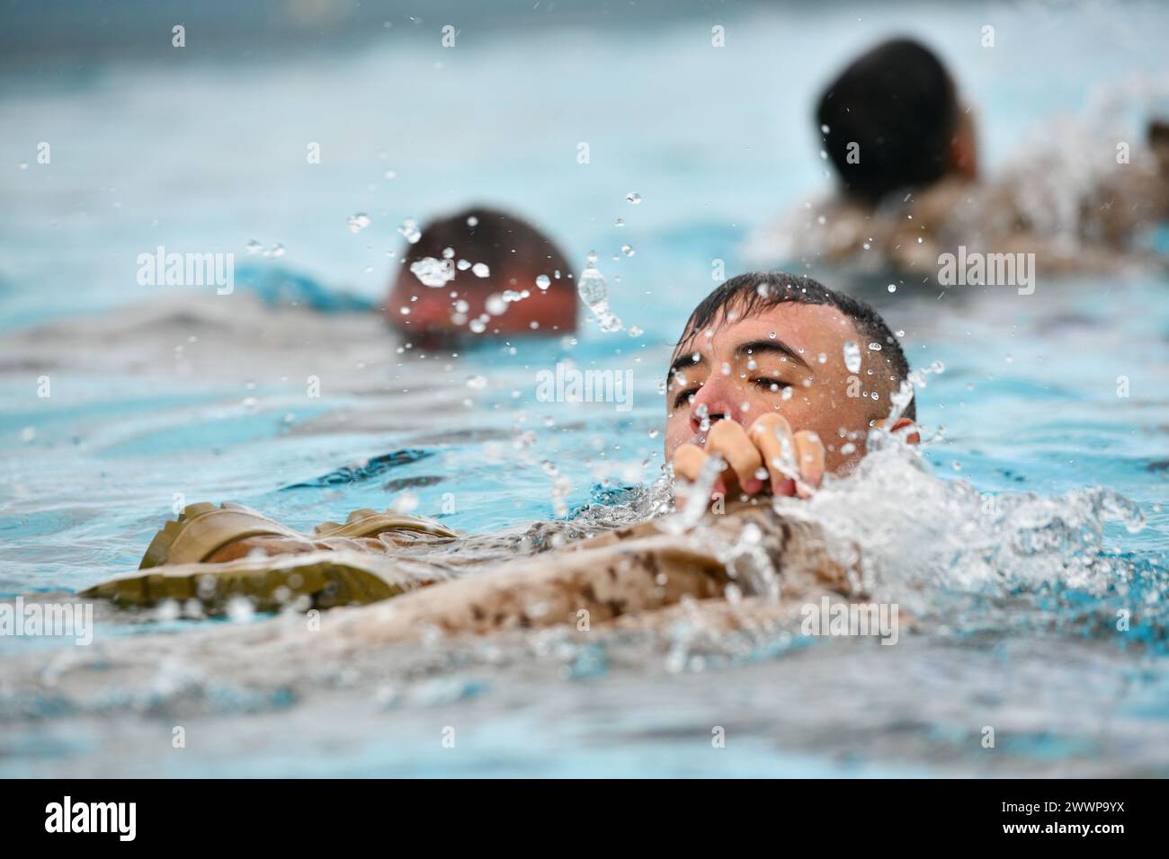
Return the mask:
<svg viewBox="0 0 1169 859">
<path fill-rule="evenodd" d="M 845 189 L 874 203 L 947 173 L 957 93 L 933 51 L 894 39 L 860 56 L 828 85 L 816 118 Z M 857 164 L 849 164 L 850 144 L 859 146 Z"/>
</svg>

